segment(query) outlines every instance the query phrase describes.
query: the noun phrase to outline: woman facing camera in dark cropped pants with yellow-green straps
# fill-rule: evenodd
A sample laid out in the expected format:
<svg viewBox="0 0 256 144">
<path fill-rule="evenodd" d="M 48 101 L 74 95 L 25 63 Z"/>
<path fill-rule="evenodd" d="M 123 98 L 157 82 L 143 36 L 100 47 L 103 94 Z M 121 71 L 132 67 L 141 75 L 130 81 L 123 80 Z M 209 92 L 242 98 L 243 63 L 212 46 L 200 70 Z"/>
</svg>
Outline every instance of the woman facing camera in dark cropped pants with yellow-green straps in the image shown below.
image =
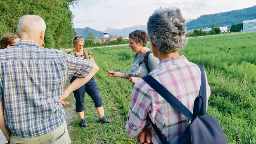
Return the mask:
<svg viewBox="0 0 256 144">
<path fill-rule="evenodd" d="M 95 60 L 92 56 L 92 53 L 87 50 L 83 49 L 85 39 L 81 35 L 76 35 L 73 37 L 72 44 L 74 49 L 69 51 L 68 54 L 71 54 L 75 57 L 78 58 L 83 58 L 86 60 L 90 60 L 93 63 L 95 63 Z M 70 83 L 76 79 L 75 76 L 70 77 Z M 84 84 L 80 88 L 78 88 L 76 91 L 73 91 L 73 94 L 76 98 L 76 112 L 78 114 L 78 117 L 80 118 L 81 121 L 81 126 L 82 127 L 87 127 L 88 123 L 85 120 L 85 115 L 84 115 L 84 98 L 85 98 L 85 92 L 92 98 L 95 108 L 100 116 L 99 120 L 101 123 L 110 123 L 108 118 L 104 116 L 104 108 L 103 108 L 103 103 L 102 103 L 102 98 L 98 89 L 98 85 L 92 77 L 88 83 Z"/>
</svg>

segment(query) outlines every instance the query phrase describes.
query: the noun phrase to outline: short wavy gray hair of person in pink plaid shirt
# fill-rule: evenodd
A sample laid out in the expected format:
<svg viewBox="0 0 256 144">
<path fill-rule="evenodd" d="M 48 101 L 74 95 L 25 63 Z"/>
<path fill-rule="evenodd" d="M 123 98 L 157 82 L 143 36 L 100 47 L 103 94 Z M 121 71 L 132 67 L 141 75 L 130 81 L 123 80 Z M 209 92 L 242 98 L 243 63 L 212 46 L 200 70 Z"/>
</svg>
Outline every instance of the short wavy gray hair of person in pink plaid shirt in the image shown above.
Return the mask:
<svg viewBox="0 0 256 144">
<path fill-rule="evenodd" d="M 159 7 L 149 17 L 147 33 L 162 53 L 182 50 L 187 44 L 185 19 L 177 7 Z"/>
</svg>

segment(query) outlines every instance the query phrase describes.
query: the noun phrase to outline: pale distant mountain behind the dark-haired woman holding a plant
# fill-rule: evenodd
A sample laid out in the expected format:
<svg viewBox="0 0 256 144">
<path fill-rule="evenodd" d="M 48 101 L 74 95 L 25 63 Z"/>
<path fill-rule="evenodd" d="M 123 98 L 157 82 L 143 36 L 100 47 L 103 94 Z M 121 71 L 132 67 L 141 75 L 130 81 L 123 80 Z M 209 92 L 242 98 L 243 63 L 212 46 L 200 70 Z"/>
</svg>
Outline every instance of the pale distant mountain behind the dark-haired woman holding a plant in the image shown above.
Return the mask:
<svg viewBox="0 0 256 144">
<path fill-rule="evenodd" d="M 129 33 L 133 32 L 134 30 L 145 30 L 147 32 L 147 26 L 145 25 L 137 25 L 127 28 L 116 29 L 116 28 L 107 28 L 104 32 L 111 33 L 112 35 L 121 35 L 121 36 L 128 36 Z"/>
</svg>

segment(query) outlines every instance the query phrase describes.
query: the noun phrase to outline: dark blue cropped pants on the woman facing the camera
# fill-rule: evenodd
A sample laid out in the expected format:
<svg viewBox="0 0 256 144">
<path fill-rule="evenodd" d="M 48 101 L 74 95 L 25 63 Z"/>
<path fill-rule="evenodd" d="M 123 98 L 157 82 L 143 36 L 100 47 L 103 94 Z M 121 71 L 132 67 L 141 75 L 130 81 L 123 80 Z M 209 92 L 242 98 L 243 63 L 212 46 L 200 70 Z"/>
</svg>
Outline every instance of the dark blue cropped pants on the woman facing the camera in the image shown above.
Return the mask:
<svg viewBox="0 0 256 144">
<path fill-rule="evenodd" d="M 72 83 L 75 79 L 70 79 L 70 83 Z M 84 110 L 84 98 L 85 92 L 92 98 L 95 107 L 102 107 L 102 98 L 98 89 L 98 85 L 92 77 L 86 84 L 78 88 L 76 91 L 73 91 L 73 94 L 76 98 L 76 111 L 82 112 Z"/>
</svg>

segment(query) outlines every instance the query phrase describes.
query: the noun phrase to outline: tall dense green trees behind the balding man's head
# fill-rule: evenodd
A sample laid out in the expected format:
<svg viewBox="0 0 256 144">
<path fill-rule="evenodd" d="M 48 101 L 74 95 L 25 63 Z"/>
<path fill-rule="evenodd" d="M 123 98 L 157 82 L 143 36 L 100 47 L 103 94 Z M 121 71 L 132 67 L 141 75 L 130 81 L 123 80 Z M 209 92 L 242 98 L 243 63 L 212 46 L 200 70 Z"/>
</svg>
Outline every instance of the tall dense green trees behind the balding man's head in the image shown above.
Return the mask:
<svg viewBox="0 0 256 144">
<path fill-rule="evenodd" d="M 46 47 L 69 47 L 76 34 L 69 6 L 78 2 L 79 0 L 0 0 L 0 36 L 17 33 L 19 18 L 34 14 L 45 20 Z"/>
</svg>

